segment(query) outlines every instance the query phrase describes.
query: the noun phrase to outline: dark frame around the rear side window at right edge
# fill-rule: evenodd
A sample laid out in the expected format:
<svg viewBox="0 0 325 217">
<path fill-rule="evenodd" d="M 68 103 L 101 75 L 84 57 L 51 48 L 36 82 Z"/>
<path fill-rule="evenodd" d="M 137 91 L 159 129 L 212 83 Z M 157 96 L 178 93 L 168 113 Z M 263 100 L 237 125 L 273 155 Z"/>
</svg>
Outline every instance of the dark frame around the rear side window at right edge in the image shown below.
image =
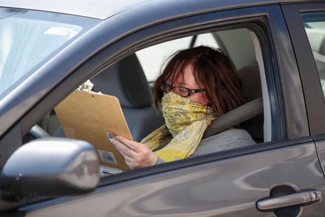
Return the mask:
<svg viewBox="0 0 325 217">
<path fill-rule="evenodd" d="M 281 6 L 292 39 L 303 85 L 310 135 L 325 134 L 325 102 L 316 63 L 300 13 L 325 12 L 325 3 L 286 4 Z"/>
</svg>

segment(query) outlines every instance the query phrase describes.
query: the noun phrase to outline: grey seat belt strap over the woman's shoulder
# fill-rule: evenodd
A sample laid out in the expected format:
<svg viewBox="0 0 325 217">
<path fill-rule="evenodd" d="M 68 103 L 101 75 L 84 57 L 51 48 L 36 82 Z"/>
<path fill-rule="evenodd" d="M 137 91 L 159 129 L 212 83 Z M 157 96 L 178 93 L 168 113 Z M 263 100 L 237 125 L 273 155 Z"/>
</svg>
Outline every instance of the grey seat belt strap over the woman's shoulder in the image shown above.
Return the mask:
<svg viewBox="0 0 325 217">
<path fill-rule="evenodd" d="M 261 113 L 263 113 L 262 97 L 250 101 L 214 119 L 204 132 L 202 139 L 218 134 L 231 126 L 249 120 Z"/>
</svg>

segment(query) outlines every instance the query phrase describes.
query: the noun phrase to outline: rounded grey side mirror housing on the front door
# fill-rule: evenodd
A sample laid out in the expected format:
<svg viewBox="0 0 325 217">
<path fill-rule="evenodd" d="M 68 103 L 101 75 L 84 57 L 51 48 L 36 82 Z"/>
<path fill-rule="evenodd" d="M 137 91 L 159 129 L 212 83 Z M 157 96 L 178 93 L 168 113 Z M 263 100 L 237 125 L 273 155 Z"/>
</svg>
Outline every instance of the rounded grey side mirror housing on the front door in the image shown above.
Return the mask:
<svg viewBox="0 0 325 217">
<path fill-rule="evenodd" d="M 96 149 L 66 138 L 33 140 L 6 162 L 0 188 L 15 196 L 67 196 L 94 190 L 100 181 Z"/>
</svg>

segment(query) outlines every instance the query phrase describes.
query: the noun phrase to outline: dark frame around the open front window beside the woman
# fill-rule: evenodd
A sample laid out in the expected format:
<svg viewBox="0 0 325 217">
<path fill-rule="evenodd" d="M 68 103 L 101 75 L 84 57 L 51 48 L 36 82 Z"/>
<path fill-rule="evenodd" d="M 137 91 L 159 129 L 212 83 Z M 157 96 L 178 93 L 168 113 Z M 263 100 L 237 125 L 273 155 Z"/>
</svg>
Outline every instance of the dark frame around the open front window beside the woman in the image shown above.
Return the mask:
<svg viewBox="0 0 325 217">
<path fill-rule="evenodd" d="M 231 14 L 231 16 L 228 16 L 229 13 Z M 193 33 L 198 34 L 200 33 L 200 31 L 201 32 L 208 31 L 209 28 L 210 29 L 218 28 L 218 30 L 222 28 L 226 29 L 225 25 L 234 25 L 234 23 L 237 23 L 238 25 L 243 25 L 245 27 L 247 27 L 247 24 L 245 24 L 245 22 L 248 23 L 257 22 L 259 24 L 266 24 L 263 23 L 263 19 L 269 18 L 269 16 L 267 16 L 268 13 L 272 13 L 271 19 L 275 19 L 275 17 L 277 17 L 279 13 L 281 13 L 280 7 L 263 6 L 263 7 L 256 7 L 256 8 L 252 7 L 252 8 L 244 8 L 244 9 L 233 9 L 230 12 L 219 11 L 219 12 L 213 12 L 208 14 L 199 14 L 190 17 L 180 18 L 180 19 L 190 19 L 190 20 L 192 19 L 192 22 L 194 22 L 193 26 L 188 26 L 187 28 L 183 28 L 183 26 L 178 26 L 178 29 L 173 29 L 173 31 L 166 33 L 166 31 L 163 28 L 171 29 L 170 27 L 171 22 L 174 22 L 175 24 L 178 23 L 179 25 L 178 22 L 179 19 L 175 19 L 172 21 L 168 21 L 166 23 L 151 25 L 148 28 L 137 31 L 128 36 L 125 36 L 120 40 L 114 42 L 114 44 L 110 45 L 108 48 L 105 48 L 101 52 L 97 53 L 96 56 L 91 57 L 91 59 L 89 59 L 86 64 L 80 66 L 79 68 L 76 68 L 69 76 L 67 76 L 61 83 L 59 83 L 54 90 L 52 90 L 47 96 L 45 96 L 37 105 L 35 105 L 20 120 L 19 123 L 20 126 L 22 127 L 21 130 L 23 133 L 26 133 L 28 129 L 34 123 L 36 123 L 40 118 L 40 117 L 35 118 L 35 114 L 40 114 L 39 116 L 45 115 L 61 100 L 63 100 L 66 96 L 68 96 L 78 86 L 78 84 L 96 75 L 97 73 L 99 73 L 109 65 L 113 64 L 114 62 L 133 53 L 136 49 L 142 49 L 144 47 L 157 44 L 158 42 L 163 42 L 166 40 L 170 40 L 172 38 L 178 38 L 180 36 L 190 34 L 189 30 L 191 30 L 191 34 Z M 282 15 L 282 13 L 280 15 Z M 197 21 L 197 17 L 195 16 L 202 16 L 203 18 L 209 18 L 212 19 L 213 22 L 207 22 L 204 25 L 202 25 L 202 23 Z M 271 22 L 275 22 L 275 21 L 271 20 Z M 269 23 L 266 25 L 268 26 Z M 277 26 L 279 24 L 273 23 L 272 25 Z M 283 30 L 283 25 L 284 23 L 281 22 L 280 27 L 277 26 L 277 28 L 280 28 L 282 31 L 286 32 L 286 29 Z M 261 33 L 264 32 L 262 28 L 258 26 L 256 27 L 257 27 L 255 29 L 256 31 L 261 31 Z M 204 30 L 202 30 L 203 28 Z M 290 119 L 288 120 L 288 117 L 284 117 L 285 103 L 282 101 L 282 96 L 283 96 L 282 85 L 280 82 L 280 74 L 278 74 L 278 71 L 281 69 L 278 69 L 280 63 L 277 63 L 280 57 L 277 56 L 278 54 L 276 55 L 273 50 L 275 49 L 273 48 L 274 44 L 276 44 L 278 41 L 275 42 L 272 40 L 273 33 L 269 32 L 269 29 L 271 29 L 271 27 L 267 27 L 267 31 L 264 32 L 267 34 L 265 35 L 266 38 L 263 39 L 264 36 L 260 35 L 262 36 L 262 38 L 259 39 L 265 40 L 265 41 L 260 41 L 261 46 L 262 44 L 270 46 L 270 50 L 268 50 L 269 47 L 262 46 L 262 50 L 263 50 L 262 52 L 263 52 L 265 70 L 268 76 L 267 79 L 269 79 L 267 82 L 270 83 L 270 86 L 269 85 L 268 86 L 270 89 L 272 89 L 269 90 L 269 92 L 273 92 L 273 96 L 272 96 L 273 99 L 270 100 L 273 100 L 274 105 L 276 105 L 276 106 L 272 106 L 271 108 L 273 112 L 276 112 L 276 115 L 272 115 L 272 117 L 275 118 L 277 124 L 280 124 L 279 126 L 276 125 L 275 127 L 276 130 L 281 131 L 280 133 L 278 132 L 277 134 L 274 134 L 275 135 L 274 141 L 269 143 L 253 145 L 241 149 L 231 150 L 231 151 L 224 151 L 219 153 L 211 153 L 208 155 L 197 156 L 197 157 L 193 157 L 181 161 L 175 161 L 175 162 L 157 165 L 155 167 L 148 167 L 148 168 L 143 168 L 138 170 L 126 171 L 121 173 L 120 175 L 102 179 L 99 187 L 107 186 L 113 183 L 122 182 L 130 179 L 144 177 L 144 176 L 156 174 L 163 171 L 175 170 L 183 167 L 198 165 L 201 163 L 216 161 L 216 160 L 225 159 L 229 157 L 242 156 L 249 153 L 256 153 L 260 151 L 266 151 L 274 148 L 291 146 L 295 144 L 300 144 L 302 142 L 312 141 L 310 138 L 307 138 L 307 136 L 309 135 L 305 135 L 305 134 L 301 136 L 303 138 L 298 138 L 298 139 L 296 138 L 295 140 L 290 140 L 292 139 L 290 137 L 288 138 L 288 132 L 286 132 L 286 129 L 290 128 L 287 124 L 288 121 L 290 124 L 291 120 Z M 160 32 L 160 34 L 158 34 L 157 32 L 158 33 Z M 144 36 L 146 34 L 147 36 Z M 149 36 L 151 36 L 150 40 L 148 40 Z M 269 54 L 269 53 L 271 54 L 264 56 L 264 54 Z M 276 118 L 280 118 L 280 119 L 277 120 Z"/>
</svg>

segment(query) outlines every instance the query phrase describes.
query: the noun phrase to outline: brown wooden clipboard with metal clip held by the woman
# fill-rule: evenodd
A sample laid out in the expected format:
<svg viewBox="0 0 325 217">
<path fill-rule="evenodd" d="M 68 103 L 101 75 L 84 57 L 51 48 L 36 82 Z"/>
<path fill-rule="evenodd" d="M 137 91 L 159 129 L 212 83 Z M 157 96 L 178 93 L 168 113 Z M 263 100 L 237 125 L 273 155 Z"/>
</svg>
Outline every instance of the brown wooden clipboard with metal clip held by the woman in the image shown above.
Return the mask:
<svg viewBox="0 0 325 217">
<path fill-rule="evenodd" d="M 76 90 L 54 108 L 68 138 L 84 140 L 98 150 L 100 164 L 129 170 L 106 132 L 132 140 L 119 100 L 110 95 Z"/>
</svg>

